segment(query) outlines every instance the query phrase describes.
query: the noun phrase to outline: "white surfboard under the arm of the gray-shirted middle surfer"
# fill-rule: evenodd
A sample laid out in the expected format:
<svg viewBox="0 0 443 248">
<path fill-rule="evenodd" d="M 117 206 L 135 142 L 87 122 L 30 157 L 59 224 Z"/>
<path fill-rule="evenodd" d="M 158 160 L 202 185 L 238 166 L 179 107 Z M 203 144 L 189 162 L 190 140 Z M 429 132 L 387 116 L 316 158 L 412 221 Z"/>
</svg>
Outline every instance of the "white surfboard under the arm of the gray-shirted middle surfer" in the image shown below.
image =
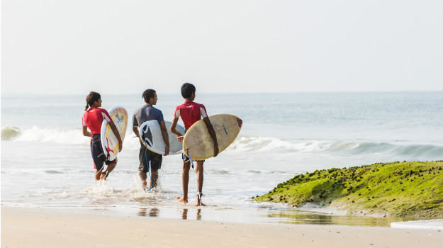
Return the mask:
<svg viewBox="0 0 443 248">
<path fill-rule="evenodd" d="M 165 121 L 164 125 L 166 125 L 169 137 L 169 154 L 181 152 L 183 147 L 177 140 L 177 135 L 169 130 L 172 123 L 170 121 Z M 181 125 L 176 125 L 175 129 L 179 131 L 181 135 L 184 135 L 184 128 Z M 160 124 L 157 120 L 145 121 L 140 125 L 138 132 L 140 133 L 140 140 L 142 140 L 143 145 L 145 145 L 147 149 L 158 154 L 164 154 L 166 144 L 164 144 L 162 130 L 160 129 Z"/>
</svg>

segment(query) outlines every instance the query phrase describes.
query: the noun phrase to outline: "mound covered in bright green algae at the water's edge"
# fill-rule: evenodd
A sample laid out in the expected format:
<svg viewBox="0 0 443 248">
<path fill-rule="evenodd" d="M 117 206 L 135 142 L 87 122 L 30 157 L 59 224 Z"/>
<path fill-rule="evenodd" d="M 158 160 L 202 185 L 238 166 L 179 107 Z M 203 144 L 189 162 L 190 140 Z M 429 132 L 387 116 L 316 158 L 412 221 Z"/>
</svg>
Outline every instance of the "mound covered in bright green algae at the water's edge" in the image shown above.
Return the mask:
<svg viewBox="0 0 443 248">
<path fill-rule="evenodd" d="M 305 203 L 348 213 L 443 217 L 443 161 L 392 162 L 300 174 L 254 201 Z"/>
</svg>

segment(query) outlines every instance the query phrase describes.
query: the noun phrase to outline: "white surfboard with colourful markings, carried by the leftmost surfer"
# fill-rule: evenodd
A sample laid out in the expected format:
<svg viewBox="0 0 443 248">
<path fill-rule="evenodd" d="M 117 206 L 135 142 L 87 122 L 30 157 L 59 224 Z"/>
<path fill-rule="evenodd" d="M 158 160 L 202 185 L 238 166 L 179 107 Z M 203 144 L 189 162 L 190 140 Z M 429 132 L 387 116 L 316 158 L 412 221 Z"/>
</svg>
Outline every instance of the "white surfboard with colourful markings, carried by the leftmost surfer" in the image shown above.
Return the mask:
<svg viewBox="0 0 443 248">
<path fill-rule="evenodd" d="M 128 127 L 128 112 L 122 107 L 113 107 L 108 112 L 111 115 L 113 123 L 116 125 L 118 133 L 120 133 L 121 140 L 125 139 L 126 128 Z M 101 123 L 101 147 L 108 160 L 114 160 L 118 154 L 118 140 L 114 132 L 111 130 L 107 120 L 103 120 Z"/>
</svg>

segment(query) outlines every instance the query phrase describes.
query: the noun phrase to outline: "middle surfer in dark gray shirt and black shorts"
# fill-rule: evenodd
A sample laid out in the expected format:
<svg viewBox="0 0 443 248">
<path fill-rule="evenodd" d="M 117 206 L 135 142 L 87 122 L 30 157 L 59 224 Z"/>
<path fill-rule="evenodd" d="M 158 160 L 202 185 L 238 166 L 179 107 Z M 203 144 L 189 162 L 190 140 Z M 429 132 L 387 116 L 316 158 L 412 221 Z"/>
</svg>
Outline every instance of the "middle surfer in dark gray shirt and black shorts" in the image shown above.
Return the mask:
<svg viewBox="0 0 443 248">
<path fill-rule="evenodd" d="M 145 100 L 145 105 L 141 108 L 138 108 L 134 112 L 133 115 L 133 132 L 140 139 L 140 133 L 138 132 L 138 128 L 140 125 L 145 123 L 148 120 L 157 120 L 160 124 L 160 129 L 162 130 L 162 136 L 164 140 L 164 144 L 166 144 L 164 156 L 169 154 L 169 137 L 166 130 L 166 125 L 164 125 L 163 113 L 157 108 L 154 108 L 154 105 L 157 104 L 157 93 L 153 89 L 147 89 L 142 94 L 143 99 Z M 140 140 L 140 152 L 138 154 L 138 159 L 140 160 L 140 166 L 138 170 L 140 171 L 140 179 L 142 179 L 142 186 L 145 190 L 150 190 L 150 188 L 154 188 L 157 186 L 158 179 L 158 170 L 162 167 L 162 154 L 157 154 L 150 150 L 147 150 L 145 145 L 143 145 Z M 151 164 L 151 180 L 150 186 L 147 187 L 147 172 L 149 171 L 149 163 Z"/>
</svg>

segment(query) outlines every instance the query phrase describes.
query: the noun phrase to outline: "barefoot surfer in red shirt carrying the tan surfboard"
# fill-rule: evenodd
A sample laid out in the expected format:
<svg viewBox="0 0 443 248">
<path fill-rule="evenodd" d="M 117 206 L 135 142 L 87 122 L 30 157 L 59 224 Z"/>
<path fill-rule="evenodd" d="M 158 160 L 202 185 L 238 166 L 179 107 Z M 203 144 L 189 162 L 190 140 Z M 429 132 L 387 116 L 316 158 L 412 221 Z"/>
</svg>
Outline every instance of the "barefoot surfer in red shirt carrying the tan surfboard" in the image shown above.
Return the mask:
<svg viewBox="0 0 443 248">
<path fill-rule="evenodd" d="M 185 83 L 181 86 L 181 96 L 184 98 L 184 103 L 176 106 L 174 112 L 174 119 L 172 120 L 171 132 L 177 135 L 177 139 L 179 142 L 183 142 L 183 137 L 181 133 L 179 133 L 175 128 L 179 118 L 183 120 L 184 130 L 191 128 L 191 125 L 196 123 L 198 120 L 203 118 L 206 123 L 206 127 L 208 128 L 209 134 L 214 140 L 214 157 L 218 154 L 218 142 L 217 136 L 215 135 L 215 130 L 211 124 L 211 121 L 208 118 L 208 113 L 206 112 L 206 108 L 203 104 L 194 102 L 196 98 L 196 87 L 192 84 Z M 188 203 L 188 184 L 189 184 L 189 167 L 191 166 L 191 161 L 186 156 L 186 154 L 181 154 L 183 159 L 183 174 L 182 174 L 182 186 L 183 186 L 183 196 L 178 197 L 177 200 L 181 203 Z M 197 203 L 196 205 L 203 205 L 201 203 L 201 196 L 203 190 L 203 161 L 196 161 L 196 174 L 197 174 Z"/>
</svg>

